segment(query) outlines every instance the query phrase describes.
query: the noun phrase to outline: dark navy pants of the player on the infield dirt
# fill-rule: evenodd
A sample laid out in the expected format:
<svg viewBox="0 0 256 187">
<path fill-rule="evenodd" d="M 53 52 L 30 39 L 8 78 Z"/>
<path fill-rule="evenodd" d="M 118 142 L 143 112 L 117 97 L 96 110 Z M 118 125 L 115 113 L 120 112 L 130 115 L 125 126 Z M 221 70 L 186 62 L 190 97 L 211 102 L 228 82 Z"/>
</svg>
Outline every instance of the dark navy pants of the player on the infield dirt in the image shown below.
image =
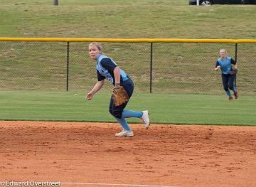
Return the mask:
<svg viewBox="0 0 256 187">
<path fill-rule="evenodd" d="M 120 85 L 124 87 L 124 90 L 127 92 L 129 95 L 129 98 L 132 97 L 132 93 L 134 90 L 134 83 L 132 82 L 131 79 L 125 80 L 124 82 L 120 82 Z M 110 99 L 110 114 L 112 114 L 116 118 L 122 118 L 122 112 L 124 108 L 126 107 L 128 102 L 124 102 L 122 105 L 119 106 L 114 106 L 114 101 L 111 97 Z"/>
</svg>

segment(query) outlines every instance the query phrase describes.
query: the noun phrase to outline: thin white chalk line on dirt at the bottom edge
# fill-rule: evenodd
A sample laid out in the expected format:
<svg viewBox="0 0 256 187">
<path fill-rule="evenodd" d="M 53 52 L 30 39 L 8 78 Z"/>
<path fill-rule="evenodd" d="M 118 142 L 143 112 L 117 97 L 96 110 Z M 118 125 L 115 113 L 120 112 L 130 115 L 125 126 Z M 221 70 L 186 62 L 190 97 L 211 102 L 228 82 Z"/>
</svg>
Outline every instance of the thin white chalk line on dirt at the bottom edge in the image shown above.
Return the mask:
<svg viewBox="0 0 256 187">
<path fill-rule="evenodd" d="M 94 186 L 142 186 L 142 187 L 178 187 L 178 186 L 159 186 L 159 185 L 144 185 L 144 184 L 128 184 L 128 183 L 62 183 L 60 184 L 73 184 L 73 185 L 94 185 Z"/>
</svg>

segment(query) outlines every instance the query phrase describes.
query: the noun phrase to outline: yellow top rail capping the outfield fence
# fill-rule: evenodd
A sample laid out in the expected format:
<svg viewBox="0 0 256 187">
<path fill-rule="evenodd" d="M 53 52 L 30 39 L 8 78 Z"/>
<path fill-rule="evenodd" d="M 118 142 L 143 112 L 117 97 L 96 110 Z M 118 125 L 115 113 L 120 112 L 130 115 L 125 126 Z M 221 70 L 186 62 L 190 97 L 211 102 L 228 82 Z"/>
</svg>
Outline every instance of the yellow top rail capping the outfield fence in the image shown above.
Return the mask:
<svg viewBox="0 0 256 187">
<path fill-rule="evenodd" d="M 256 43 L 256 39 L 181 38 L 1 38 L 0 41 L 118 42 L 118 43 Z"/>
</svg>

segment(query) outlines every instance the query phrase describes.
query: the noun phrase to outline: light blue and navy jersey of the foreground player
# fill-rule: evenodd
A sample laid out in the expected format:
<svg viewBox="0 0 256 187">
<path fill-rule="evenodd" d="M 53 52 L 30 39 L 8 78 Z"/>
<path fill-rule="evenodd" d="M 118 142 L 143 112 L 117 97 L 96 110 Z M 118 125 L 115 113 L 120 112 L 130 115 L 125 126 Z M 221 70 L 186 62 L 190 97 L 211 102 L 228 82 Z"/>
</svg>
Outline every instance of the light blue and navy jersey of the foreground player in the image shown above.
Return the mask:
<svg viewBox="0 0 256 187">
<path fill-rule="evenodd" d="M 114 68 L 117 67 L 117 63 L 114 62 L 111 58 L 105 55 L 98 55 L 97 56 L 97 63 L 96 63 L 96 70 L 97 70 L 97 80 L 110 80 L 110 82 L 114 85 Z M 119 69 L 120 72 L 120 82 L 129 79 L 127 74 L 122 70 Z"/>
</svg>

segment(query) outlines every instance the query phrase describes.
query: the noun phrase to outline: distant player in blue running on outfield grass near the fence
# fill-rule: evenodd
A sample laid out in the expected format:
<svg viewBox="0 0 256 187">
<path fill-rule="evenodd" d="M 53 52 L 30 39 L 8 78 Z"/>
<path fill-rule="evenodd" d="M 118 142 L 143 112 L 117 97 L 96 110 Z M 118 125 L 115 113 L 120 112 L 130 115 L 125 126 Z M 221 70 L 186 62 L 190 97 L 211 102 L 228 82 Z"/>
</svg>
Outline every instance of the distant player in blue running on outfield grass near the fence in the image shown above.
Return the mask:
<svg viewBox="0 0 256 187">
<path fill-rule="evenodd" d="M 223 81 L 223 87 L 225 92 L 228 95 L 228 100 L 232 101 L 233 97 L 230 93 L 230 90 L 233 90 L 235 100 L 238 99 L 238 90 L 234 85 L 234 80 L 236 78 L 236 74 L 230 75 L 228 71 L 232 69 L 232 65 L 235 65 L 235 68 L 238 68 L 235 60 L 227 56 L 227 51 L 225 49 L 220 49 L 220 58 L 218 58 L 215 70 L 221 70 L 221 78 Z"/>
</svg>

